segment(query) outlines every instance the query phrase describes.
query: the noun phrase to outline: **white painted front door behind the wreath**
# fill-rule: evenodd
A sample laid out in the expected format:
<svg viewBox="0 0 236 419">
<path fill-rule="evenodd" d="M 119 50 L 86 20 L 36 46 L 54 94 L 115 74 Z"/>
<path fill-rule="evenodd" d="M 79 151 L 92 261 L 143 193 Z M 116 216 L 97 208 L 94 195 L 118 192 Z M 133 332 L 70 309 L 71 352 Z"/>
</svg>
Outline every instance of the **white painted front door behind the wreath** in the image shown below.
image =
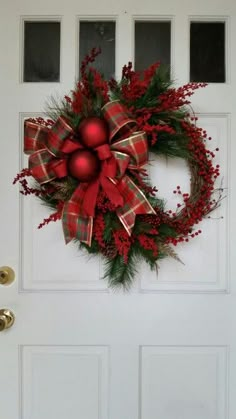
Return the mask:
<svg viewBox="0 0 236 419">
<path fill-rule="evenodd" d="M 0 309 L 10 309 L 16 317 L 0 333 L 0 417 L 235 419 L 234 0 L 1 0 L 0 12 L 0 265 L 16 272 L 11 286 L 0 286 Z M 37 68 L 39 79 L 24 81 L 31 77 L 23 71 L 24 26 L 37 21 L 60 23 L 60 75 L 56 64 L 53 74 L 60 82 L 40 82 Z M 48 211 L 35 199 L 21 199 L 12 186 L 27 162 L 22 153 L 24 118 L 40 115 L 52 93 L 73 88 L 86 40 L 79 24 L 101 21 L 115 22 L 117 77 L 123 64 L 134 59 L 135 39 L 148 34 L 148 23 L 169 22 L 167 38 L 157 44 L 159 50 L 167 44 L 167 60 L 171 44 L 172 75 L 178 84 L 189 81 L 190 55 L 194 59 L 192 54 L 199 53 L 196 48 L 190 54 L 191 25 L 201 34 L 199 23 L 221 23 L 225 33 L 225 74 L 224 63 L 212 63 L 213 73 L 220 65 L 223 75 L 195 94 L 193 107 L 199 124 L 213 137 L 212 147 L 220 148 L 227 198 L 213 219 L 203 223 L 203 234 L 178 248 L 185 265 L 165 260 L 158 278 L 141 266 L 129 293 L 109 290 L 99 279 L 99 261 L 88 262 L 74 245 L 64 245 L 60 223 L 37 230 Z M 137 29 L 136 37 L 135 21 L 147 25 L 141 35 Z M 98 24 L 96 30 L 103 36 L 104 28 Z M 210 38 L 209 48 L 214 46 L 211 29 Z M 35 48 L 40 55 L 40 43 Z M 141 51 L 140 60 L 151 55 L 149 49 Z M 55 52 L 54 63 L 56 57 Z M 201 54 L 195 58 L 204 60 Z M 170 198 L 173 188 L 189 183 L 177 162 L 156 163 L 152 178 L 170 206 L 176 205 Z"/>
</svg>

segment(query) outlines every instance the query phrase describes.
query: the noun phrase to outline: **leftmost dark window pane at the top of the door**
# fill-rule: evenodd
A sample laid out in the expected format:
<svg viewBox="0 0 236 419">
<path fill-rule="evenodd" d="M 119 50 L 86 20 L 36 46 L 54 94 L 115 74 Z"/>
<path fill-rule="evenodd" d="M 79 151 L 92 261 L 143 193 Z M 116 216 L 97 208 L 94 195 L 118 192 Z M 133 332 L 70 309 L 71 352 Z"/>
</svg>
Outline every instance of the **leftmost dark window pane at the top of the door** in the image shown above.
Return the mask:
<svg viewBox="0 0 236 419">
<path fill-rule="evenodd" d="M 60 79 L 60 23 L 25 22 L 24 82 Z"/>
</svg>

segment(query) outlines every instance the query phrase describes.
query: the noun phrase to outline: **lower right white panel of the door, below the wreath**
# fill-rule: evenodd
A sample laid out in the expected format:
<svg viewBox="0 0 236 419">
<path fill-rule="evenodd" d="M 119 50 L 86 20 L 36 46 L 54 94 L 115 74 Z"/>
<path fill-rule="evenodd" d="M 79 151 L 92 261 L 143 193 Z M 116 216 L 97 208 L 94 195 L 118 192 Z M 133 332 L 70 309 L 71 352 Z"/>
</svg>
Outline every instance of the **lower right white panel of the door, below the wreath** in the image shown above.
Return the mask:
<svg viewBox="0 0 236 419">
<path fill-rule="evenodd" d="M 140 354 L 142 418 L 227 417 L 226 347 L 153 346 Z"/>
</svg>

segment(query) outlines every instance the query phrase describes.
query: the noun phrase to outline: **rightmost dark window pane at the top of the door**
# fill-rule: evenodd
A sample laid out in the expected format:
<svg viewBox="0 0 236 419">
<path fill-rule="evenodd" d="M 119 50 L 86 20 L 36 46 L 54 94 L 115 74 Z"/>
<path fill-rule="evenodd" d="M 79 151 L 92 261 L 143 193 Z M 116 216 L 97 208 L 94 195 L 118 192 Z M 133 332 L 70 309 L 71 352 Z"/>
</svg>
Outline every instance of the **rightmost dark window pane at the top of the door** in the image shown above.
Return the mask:
<svg viewBox="0 0 236 419">
<path fill-rule="evenodd" d="M 224 22 L 191 22 L 190 80 L 225 82 Z"/>
</svg>

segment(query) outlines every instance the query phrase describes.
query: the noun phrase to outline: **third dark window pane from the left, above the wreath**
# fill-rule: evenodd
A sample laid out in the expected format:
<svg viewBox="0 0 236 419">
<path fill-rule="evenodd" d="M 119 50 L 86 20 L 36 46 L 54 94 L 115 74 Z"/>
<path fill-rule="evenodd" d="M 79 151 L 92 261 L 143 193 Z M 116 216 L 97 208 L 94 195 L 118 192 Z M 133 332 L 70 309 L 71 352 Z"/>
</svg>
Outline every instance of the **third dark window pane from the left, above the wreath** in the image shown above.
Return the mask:
<svg viewBox="0 0 236 419">
<path fill-rule="evenodd" d="M 171 22 L 135 22 L 135 70 L 160 61 L 170 68 Z"/>
</svg>

